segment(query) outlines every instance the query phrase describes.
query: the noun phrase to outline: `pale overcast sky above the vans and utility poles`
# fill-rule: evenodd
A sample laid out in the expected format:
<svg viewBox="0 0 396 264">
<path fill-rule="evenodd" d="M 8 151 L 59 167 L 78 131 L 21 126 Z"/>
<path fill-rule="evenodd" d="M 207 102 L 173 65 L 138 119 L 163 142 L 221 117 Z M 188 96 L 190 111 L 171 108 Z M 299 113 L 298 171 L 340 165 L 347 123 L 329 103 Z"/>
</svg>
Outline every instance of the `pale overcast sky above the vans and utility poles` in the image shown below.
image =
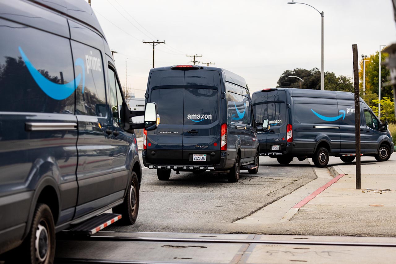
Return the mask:
<svg viewBox="0 0 396 264">
<path fill-rule="evenodd" d="M 358 44 L 360 56 L 375 53 L 380 44 L 396 42 L 391 0 L 300 2 L 324 11 L 325 71 L 352 77 L 352 44 Z M 285 70 L 320 69 L 321 17 L 303 4 L 287 4 L 287 0 L 91 0 L 91 7 L 110 49 L 118 52 L 114 59 L 122 85 L 127 61 L 127 85 L 136 97 L 144 96 L 152 68 L 152 48 L 142 40 L 165 40 L 166 44 L 155 48 L 156 67 L 192 64 L 186 55 L 202 54 L 198 61 L 239 74 L 251 92 L 275 87 Z"/>
</svg>

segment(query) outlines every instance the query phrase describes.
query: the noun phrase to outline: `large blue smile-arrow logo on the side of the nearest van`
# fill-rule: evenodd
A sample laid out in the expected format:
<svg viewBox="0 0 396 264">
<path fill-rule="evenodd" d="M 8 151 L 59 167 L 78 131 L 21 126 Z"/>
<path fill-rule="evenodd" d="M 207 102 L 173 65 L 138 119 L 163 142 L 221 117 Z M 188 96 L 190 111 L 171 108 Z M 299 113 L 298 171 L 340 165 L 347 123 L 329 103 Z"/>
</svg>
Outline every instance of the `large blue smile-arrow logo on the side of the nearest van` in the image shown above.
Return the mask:
<svg viewBox="0 0 396 264">
<path fill-rule="evenodd" d="M 67 84 L 55 84 L 54 82 L 51 82 L 47 78 L 45 78 L 34 66 L 32 63 L 29 61 L 28 57 L 25 55 L 21 47 L 18 47 L 19 53 L 21 53 L 23 61 L 25 61 L 25 65 L 27 69 L 30 72 L 30 75 L 32 75 L 34 81 L 36 81 L 36 84 L 42 89 L 46 95 L 51 97 L 52 99 L 55 100 L 63 100 L 72 95 L 74 91 L 77 89 L 77 86 L 80 84 L 81 81 L 81 73 L 78 74 L 76 79 L 74 79 L 72 82 L 69 82 Z M 84 61 L 80 58 L 76 59 L 76 66 L 81 66 L 82 67 L 82 92 L 84 93 L 84 87 L 85 87 L 85 67 L 84 67 Z"/>
</svg>

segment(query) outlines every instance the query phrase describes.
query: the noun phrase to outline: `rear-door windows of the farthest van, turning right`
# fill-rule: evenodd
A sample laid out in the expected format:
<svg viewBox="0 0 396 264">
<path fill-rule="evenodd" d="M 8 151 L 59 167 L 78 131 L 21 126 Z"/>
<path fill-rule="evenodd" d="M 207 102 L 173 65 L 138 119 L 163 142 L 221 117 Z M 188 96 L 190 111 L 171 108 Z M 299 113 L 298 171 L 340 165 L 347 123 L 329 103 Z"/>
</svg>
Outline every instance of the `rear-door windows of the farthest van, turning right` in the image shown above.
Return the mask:
<svg viewBox="0 0 396 264">
<path fill-rule="evenodd" d="M 286 105 L 282 102 L 255 104 L 253 112 L 258 123 L 263 123 L 264 119 L 268 119 L 268 123 L 273 126 L 286 122 Z"/>
</svg>

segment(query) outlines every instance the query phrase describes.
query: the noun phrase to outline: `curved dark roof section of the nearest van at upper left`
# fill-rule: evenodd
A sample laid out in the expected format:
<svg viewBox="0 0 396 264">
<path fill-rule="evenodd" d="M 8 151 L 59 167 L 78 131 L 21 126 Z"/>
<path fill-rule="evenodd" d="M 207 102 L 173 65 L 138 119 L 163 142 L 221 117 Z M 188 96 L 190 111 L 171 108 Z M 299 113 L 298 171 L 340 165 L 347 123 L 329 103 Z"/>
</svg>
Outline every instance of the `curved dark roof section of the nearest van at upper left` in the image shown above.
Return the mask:
<svg viewBox="0 0 396 264">
<path fill-rule="evenodd" d="M 39 4 L 40 6 L 44 6 L 48 9 L 55 10 L 67 17 L 71 17 L 80 21 L 83 24 L 88 25 L 89 27 L 97 30 L 103 38 L 105 38 L 105 34 L 101 26 L 99 25 L 99 21 L 96 18 L 95 13 L 91 6 L 81 0 L 57 0 L 57 1 L 48 1 L 48 0 L 28 0 L 30 2 Z M 106 38 L 105 38 L 106 39 Z"/>
</svg>

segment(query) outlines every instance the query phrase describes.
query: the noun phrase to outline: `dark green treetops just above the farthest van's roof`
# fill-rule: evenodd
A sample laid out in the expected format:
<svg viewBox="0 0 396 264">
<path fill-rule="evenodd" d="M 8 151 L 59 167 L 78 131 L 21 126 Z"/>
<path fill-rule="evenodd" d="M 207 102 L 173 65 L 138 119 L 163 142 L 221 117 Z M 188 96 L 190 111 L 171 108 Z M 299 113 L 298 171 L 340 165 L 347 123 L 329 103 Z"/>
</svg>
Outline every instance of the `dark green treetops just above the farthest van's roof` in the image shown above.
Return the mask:
<svg viewBox="0 0 396 264">
<path fill-rule="evenodd" d="M 298 76 L 303 79 L 304 82 L 301 82 L 298 78 L 289 76 Z M 280 76 L 277 87 L 320 90 L 320 70 L 318 68 L 313 68 L 312 70 L 301 68 L 286 70 Z M 334 72 L 325 72 L 324 87 L 326 90 L 330 91 L 353 91 L 351 79 L 343 75 L 337 77 Z"/>
</svg>

